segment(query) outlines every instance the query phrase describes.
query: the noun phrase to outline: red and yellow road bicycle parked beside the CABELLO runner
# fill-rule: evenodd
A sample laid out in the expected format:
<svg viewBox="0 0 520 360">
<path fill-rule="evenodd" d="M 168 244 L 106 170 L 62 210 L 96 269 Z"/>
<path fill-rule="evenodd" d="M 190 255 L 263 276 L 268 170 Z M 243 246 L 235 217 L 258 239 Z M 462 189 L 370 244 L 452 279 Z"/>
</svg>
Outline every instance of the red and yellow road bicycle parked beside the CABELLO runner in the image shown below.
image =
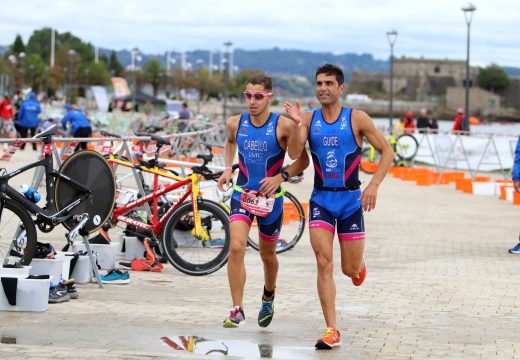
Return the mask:
<svg viewBox="0 0 520 360">
<path fill-rule="evenodd" d="M 162 244 L 168 261 L 179 271 L 194 276 L 211 274 L 227 262 L 229 256 L 229 221 L 226 212 L 218 203 L 203 199 L 199 195 L 199 175 L 197 168 L 187 177 L 181 177 L 165 170 L 159 163 L 162 146 L 170 143 L 164 138 L 146 133 L 137 136 L 150 136 L 156 141 L 156 151 L 151 160 L 133 161 L 117 159 L 109 155 L 111 165 L 136 168 L 142 173 L 153 175 L 153 186 L 144 196 L 114 209 L 107 226 L 123 222 L 144 230 L 152 240 L 152 245 Z M 159 178 L 172 180 L 166 185 L 159 184 Z M 186 190 L 179 190 L 187 187 Z M 171 200 L 159 204 L 165 195 Z M 191 196 L 191 201 L 186 201 Z M 151 203 L 152 215 L 149 223 L 128 216 L 132 211 Z M 219 247 L 210 246 L 211 240 L 223 239 Z M 153 246 L 152 246 L 153 247 Z"/>
</svg>

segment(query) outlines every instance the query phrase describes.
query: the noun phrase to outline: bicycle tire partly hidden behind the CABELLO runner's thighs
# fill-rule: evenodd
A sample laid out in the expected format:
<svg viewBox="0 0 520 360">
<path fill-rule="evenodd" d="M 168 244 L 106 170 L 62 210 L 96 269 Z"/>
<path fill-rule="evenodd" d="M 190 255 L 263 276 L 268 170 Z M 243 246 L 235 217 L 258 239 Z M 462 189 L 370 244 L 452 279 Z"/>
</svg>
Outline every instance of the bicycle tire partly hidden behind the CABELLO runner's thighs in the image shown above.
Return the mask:
<svg viewBox="0 0 520 360">
<path fill-rule="evenodd" d="M 278 246 L 276 247 L 276 253 L 281 254 L 283 252 L 286 252 L 288 250 L 291 250 L 296 246 L 298 241 L 300 241 L 303 231 L 305 230 L 305 213 L 303 211 L 302 204 L 300 201 L 291 194 L 289 191 L 285 191 L 284 194 L 284 203 L 286 200 L 289 200 L 292 202 L 294 209 L 295 209 L 295 217 L 296 220 L 292 220 L 289 224 L 282 225 L 282 229 L 280 229 L 280 237 L 278 240 Z M 293 218 L 291 216 L 291 218 Z M 288 230 L 284 230 L 288 229 Z M 296 228 L 296 233 L 291 237 L 291 234 L 294 233 L 294 228 Z M 289 240 L 286 240 L 289 239 Z M 282 240 L 283 242 L 281 242 Z M 252 235 L 251 231 L 249 233 L 249 237 L 247 239 L 247 243 L 249 246 L 251 246 L 253 249 L 260 251 L 260 243 L 259 243 L 259 237 L 258 235 Z"/>
</svg>

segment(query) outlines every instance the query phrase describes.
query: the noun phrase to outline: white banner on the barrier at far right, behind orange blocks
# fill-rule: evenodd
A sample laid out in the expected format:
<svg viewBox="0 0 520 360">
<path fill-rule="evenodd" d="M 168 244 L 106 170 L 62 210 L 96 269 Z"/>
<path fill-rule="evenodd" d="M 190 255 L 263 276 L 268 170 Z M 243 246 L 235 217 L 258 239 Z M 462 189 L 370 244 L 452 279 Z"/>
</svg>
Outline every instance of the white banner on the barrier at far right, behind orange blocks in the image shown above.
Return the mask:
<svg viewBox="0 0 520 360">
<path fill-rule="evenodd" d="M 511 169 L 516 137 L 503 135 L 414 134 L 419 142 L 415 161 L 441 168 L 493 171 Z M 514 149 L 514 148 L 513 148 Z M 468 166 L 469 164 L 469 166 Z"/>
</svg>

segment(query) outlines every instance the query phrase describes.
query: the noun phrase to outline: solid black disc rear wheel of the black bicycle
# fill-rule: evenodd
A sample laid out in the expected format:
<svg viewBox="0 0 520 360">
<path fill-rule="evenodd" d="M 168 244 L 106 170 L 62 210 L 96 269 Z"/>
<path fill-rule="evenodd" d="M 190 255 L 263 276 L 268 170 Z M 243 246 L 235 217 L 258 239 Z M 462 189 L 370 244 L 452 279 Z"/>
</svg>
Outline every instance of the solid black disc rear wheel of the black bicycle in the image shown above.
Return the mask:
<svg viewBox="0 0 520 360">
<path fill-rule="evenodd" d="M 88 214 L 89 219 L 84 229 L 89 234 L 98 230 L 108 220 L 114 208 L 116 182 L 110 165 L 103 155 L 84 150 L 70 156 L 61 165 L 60 173 L 92 191 L 92 197 L 76 205 L 69 214 Z M 55 198 L 58 210 L 83 196 L 84 193 L 66 179 L 56 179 Z M 63 225 L 70 230 L 76 222 L 71 218 L 63 222 Z"/>
</svg>

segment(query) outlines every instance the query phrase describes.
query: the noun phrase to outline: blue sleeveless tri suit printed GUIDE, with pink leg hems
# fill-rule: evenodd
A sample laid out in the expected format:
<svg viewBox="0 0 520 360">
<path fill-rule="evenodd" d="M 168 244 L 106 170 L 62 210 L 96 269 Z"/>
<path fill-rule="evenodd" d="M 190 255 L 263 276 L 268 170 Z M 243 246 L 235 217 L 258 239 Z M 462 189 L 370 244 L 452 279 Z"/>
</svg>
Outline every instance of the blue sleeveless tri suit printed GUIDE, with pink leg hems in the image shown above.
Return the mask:
<svg viewBox="0 0 520 360">
<path fill-rule="evenodd" d="M 361 148 L 352 130 L 352 109 L 343 107 L 339 117 L 327 123 L 314 110 L 309 127 L 309 146 L 314 163 L 314 190 L 309 228 L 320 228 L 340 241 L 363 240 L 365 226 L 359 189 Z"/>
</svg>

